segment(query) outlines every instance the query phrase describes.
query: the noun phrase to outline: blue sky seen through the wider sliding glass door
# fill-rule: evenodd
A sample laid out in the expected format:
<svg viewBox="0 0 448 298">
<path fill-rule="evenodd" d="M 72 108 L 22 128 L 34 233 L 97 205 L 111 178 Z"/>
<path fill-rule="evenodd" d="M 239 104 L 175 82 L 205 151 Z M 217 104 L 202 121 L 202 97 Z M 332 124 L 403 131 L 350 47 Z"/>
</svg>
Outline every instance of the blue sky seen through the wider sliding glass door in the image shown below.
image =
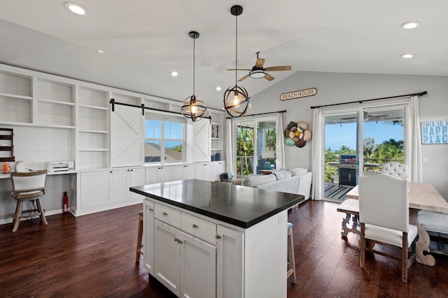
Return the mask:
<svg viewBox="0 0 448 298">
<path fill-rule="evenodd" d="M 404 140 L 403 135 L 403 126 L 394 126 L 383 121 L 364 123 L 363 137 L 373 137 L 375 144 L 381 144 L 390 139 Z M 337 151 L 342 146 L 356 149 L 356 123 L 325 124 L 325 149 Z"/>
</svg>

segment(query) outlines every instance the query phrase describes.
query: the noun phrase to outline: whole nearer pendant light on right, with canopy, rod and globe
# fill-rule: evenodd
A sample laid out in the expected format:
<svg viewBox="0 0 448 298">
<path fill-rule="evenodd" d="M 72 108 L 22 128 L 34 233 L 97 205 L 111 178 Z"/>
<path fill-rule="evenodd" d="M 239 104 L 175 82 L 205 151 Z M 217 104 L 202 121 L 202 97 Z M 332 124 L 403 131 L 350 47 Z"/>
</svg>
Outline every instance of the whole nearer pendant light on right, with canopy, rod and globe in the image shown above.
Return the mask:
<svg viewBox="0 0 448 298">
<path fill-rule="evenodd" d="M 246 89 L 244 87 L 238 86 L 237 84 L 237 68 L 238 68 L 238 15 L 243 13 L 243 8 L 239 5 L 232 6 L 230 8 L 230 13 L 235 15 L 236 17 L 236 25 L 235 25 L 235 86 L 229 87 L 224 92 L 223 108 L 230 115 L 230 117 L 241 117 L 248 112 L 250 104 L 249 104 L 249 96 L 247 94 Z"/>
</svg>

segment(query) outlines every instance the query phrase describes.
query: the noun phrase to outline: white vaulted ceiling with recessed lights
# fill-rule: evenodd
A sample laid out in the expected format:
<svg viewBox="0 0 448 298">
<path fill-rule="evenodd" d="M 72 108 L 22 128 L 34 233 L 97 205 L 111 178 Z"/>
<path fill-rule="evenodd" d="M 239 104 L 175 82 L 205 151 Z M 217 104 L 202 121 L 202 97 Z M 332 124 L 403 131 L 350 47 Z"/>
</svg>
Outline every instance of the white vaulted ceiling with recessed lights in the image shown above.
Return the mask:
<svg viewBox="0 0 448 298">
<path fill-rule="evenodd" d="M 272 82 L 244 80 L 250 95 L 297 71 L 448 75 L 446 0 L 77 1 L 86 16 L 64 3 L 0 0 L 0 62 L 184 100 L 193 94 L 188 32 L 195 30 L 195 94 L 220 108 L 223 91 L 235 85 L 235 72 L 226 69 L 235 68 L 230 7 L 239 4 L 238 67 L 251 68 L 258 51 L 265 67 L 292 66 L 272 72 Z M 402 29 L 407 21 L 421 26 Z M 416 57 L 401 59 L 407 52 Z"/>
</svg>

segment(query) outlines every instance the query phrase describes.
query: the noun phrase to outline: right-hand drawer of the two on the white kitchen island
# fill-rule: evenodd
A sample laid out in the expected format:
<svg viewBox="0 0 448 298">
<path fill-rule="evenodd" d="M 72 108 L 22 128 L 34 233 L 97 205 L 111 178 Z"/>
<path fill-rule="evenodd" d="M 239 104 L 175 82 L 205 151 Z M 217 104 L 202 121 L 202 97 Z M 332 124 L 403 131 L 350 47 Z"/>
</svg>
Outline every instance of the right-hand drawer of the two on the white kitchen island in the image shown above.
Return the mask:
<svg viewBox="0 0 448 298">
<path fill-rule="evenodd" d="M 216 245 L 216 224 L 181 212 L 181 230 Z"/>
</svg>

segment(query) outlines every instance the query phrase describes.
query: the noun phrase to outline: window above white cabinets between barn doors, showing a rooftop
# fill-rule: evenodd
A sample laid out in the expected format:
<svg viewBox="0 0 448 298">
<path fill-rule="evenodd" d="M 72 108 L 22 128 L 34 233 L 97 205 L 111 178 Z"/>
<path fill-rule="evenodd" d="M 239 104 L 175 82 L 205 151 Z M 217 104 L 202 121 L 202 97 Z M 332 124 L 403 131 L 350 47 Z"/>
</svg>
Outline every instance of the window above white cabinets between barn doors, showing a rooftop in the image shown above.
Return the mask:
<svg viewBox="0 0 448 298">
<path fill-rule="evenodd" d="M 146 119 L 145 163 L 183 161 L 185 124 L 176 121 Z"/>
</svg>

